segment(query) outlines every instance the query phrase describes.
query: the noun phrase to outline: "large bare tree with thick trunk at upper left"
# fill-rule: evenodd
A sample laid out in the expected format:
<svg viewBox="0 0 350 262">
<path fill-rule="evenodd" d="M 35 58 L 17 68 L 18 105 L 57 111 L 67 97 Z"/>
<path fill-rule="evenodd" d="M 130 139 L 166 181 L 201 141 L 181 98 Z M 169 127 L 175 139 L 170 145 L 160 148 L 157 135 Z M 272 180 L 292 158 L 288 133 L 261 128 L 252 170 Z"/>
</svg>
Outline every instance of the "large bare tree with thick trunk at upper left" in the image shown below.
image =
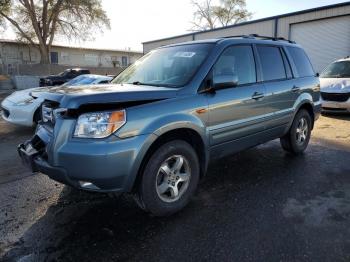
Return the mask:
<svg viewBox="0 0 350 262">
<path fill-rule="evenodd" d="M 13 27 L 19 40 L 38 44 L 43 64 L 50 63 L 56 37 L 87 40 L 110 27 L 101 0 L 0 0 L 1 21 Z"/>
</svg>

